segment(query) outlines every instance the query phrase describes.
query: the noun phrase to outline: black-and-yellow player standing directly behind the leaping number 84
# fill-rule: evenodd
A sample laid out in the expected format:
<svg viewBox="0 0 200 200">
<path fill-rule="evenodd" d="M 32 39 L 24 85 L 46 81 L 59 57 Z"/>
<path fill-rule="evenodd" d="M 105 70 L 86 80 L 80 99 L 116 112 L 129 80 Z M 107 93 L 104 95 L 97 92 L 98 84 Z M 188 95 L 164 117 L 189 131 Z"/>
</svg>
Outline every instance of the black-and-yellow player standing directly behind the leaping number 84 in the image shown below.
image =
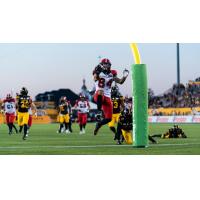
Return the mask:
<svg viewBox="0 0 200 200">
<path fill-rule="evenodd" d="M 124 108 L 124 99 L 123 96 L 120 94 L 117 85 L 113 86 L 111 89 L 111 98 L 113 104 L 113 114 L 112 114 L 112 120 L 111 122 L 108 123 L 108 126 L 110 130 L 115 134 L 114 140 L 116 140 L 115 124 L 118 123 L 120 113 Z"/>
</svg>

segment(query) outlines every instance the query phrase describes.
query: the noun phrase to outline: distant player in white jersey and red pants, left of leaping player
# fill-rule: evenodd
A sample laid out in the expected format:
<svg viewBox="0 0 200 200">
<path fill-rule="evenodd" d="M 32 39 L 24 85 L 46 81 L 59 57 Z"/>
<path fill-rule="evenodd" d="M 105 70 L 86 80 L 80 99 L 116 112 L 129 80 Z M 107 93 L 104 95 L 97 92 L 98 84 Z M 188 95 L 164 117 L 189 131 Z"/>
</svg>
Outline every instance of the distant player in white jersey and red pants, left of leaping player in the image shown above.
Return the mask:
<svg viewBox="0 0 200 200">
<path fill-rule="evenodd" d="M 90 109 L 90 104 L 88 100 L 86 100 L 84 95 L 80 95 L 80 99 L 76 101 L 74 106 L 75 109 L 78 110 L 78 122 L 80 127 L 80 134 L 85 133 L 85 127 L 87 124 L 87 113 Z"/>
</svg>

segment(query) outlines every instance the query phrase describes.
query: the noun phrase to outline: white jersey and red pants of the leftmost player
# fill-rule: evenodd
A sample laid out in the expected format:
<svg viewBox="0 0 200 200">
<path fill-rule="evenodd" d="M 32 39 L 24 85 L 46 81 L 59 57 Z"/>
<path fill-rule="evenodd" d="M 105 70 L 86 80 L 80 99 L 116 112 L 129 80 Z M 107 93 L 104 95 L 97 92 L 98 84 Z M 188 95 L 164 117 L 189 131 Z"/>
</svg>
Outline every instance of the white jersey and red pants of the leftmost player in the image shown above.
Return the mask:
<svg viewBox="0 0 200 200">
<path fill-rule="evenodd" d="M 15 116 L 16 116 L 16 103 L 15 99 L 5 99 L 4 103 L 4 110 L 6 113 L 6 123 L 14 123 Z"/>
</svg>

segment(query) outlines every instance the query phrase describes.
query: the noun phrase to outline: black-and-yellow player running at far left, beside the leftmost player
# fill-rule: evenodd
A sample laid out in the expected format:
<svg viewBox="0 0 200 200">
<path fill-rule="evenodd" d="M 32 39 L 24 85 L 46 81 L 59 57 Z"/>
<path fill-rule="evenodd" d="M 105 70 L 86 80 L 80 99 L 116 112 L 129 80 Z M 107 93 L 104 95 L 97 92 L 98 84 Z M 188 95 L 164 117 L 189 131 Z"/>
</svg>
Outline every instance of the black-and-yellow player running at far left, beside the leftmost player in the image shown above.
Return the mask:
<svg viewBox="0 0 200 200">
<path fill-rule="evenodd" d="M 24 129 L 23 140 L 27 137 L 28 132 L 28 120 L 29 120 L 29 113 L 28 110 L 32 106 L 32 99 L 28 95 L 28 90 L 25 87 L 22 87 L 20 90 L 20 94 L 17 96 L 17 121 L 20 127 L 19 132 L 22 132 Z"/>
</svg>

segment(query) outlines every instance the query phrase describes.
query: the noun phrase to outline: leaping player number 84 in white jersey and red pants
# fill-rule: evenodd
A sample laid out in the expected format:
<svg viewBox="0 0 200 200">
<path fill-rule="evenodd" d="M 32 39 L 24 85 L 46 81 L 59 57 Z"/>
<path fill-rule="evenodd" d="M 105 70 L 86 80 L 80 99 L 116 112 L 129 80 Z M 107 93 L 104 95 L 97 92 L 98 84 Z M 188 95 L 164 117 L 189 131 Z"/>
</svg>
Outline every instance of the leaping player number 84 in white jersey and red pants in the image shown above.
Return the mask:
<svg viewBox="0 0 200 200">
<path fill-rule="evenodd" d="M 123 71 L 123 77 L 117 77 L 117 71 L 111 70 L 111 62 L 104 58 L 93 71 L 96 92 L 94 101 L 97 103 L 98 113 L 96 115 L 97 123 L 94 129 L 94 135 L 97 135 L 98 130 L 112 119 L 112 101 L 111 101 L 111 86 L 113 81 L 123 84 L 128 77 L 129 71 Z"/>
</svg>

